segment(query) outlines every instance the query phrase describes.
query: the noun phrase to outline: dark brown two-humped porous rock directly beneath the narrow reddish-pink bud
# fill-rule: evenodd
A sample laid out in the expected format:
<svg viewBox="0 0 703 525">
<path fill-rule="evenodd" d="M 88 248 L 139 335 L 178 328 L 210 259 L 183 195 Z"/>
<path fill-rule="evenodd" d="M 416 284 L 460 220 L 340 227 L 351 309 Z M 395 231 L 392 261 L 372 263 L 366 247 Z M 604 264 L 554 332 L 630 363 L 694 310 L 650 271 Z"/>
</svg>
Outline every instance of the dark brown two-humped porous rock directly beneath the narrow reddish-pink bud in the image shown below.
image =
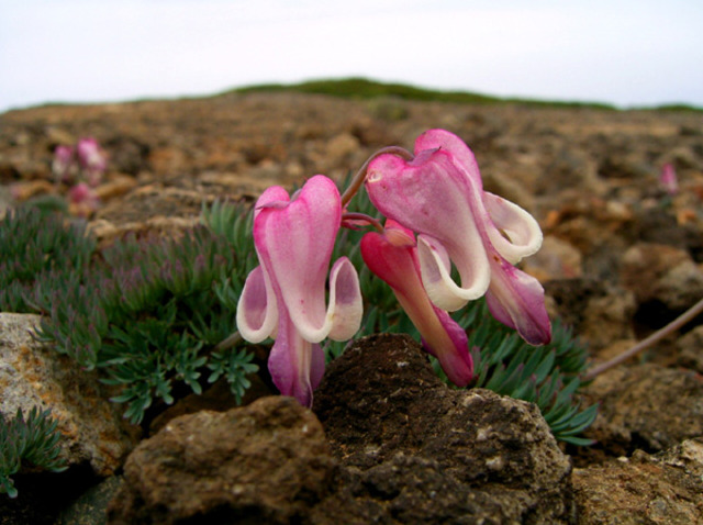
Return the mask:
<svg viewBox="0 0 703 525">
<path fill-rule="evenodd" d="M 572 520 L 571 465 L 539 410 L 449 389 L 408 336 L 357 342 L 328 367 L 313 409 L 353 478 L 323 503 L 328 515 L 352 506 L 360 523 Z"/>
</svg>

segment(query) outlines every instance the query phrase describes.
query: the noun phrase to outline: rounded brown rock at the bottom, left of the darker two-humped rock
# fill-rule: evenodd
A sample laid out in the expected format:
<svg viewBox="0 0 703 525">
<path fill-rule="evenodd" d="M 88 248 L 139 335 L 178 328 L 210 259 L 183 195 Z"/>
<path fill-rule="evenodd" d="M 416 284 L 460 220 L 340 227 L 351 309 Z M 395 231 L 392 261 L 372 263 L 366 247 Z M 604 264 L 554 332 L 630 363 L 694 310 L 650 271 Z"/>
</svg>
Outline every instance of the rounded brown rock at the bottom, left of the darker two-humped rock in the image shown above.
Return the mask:
<svg viewBox="0 0 703 525">
<path fill-rule="evenodd" d="M 322 426 L 292 398 L 202 411 L 134 450 L 108 520 L 293 523 L 326 494 L 334 469 Z"/>
</svg>

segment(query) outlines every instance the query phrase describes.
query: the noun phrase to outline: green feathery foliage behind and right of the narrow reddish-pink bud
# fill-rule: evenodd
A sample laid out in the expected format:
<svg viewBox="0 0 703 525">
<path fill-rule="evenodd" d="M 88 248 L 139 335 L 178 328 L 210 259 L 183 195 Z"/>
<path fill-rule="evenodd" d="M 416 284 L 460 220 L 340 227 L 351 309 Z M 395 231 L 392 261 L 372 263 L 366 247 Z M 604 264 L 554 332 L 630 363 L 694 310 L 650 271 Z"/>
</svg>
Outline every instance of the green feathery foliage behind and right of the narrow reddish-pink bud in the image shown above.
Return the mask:
<svg viewBox="0 0 703 525">
<path fill-rule="evenodd" d="M 348 209 L 381 219 L 366 191 L 359 191 Z M 390 288 L 364 264 L 359 242 L 365 233 L 344 230 L 334 254 L 334 257 L 348 256 L 359 269 L 365 311 L 357 337 L 386 332 L 411 334 L 420 340 L 420 334 L 398 305 Z M 588 351 L 569 328 L 555 320 L 551 343 L 535 347 L 526 344 L 514 329 L 495 321 L 483 299 L 470 302 L 453 317 L 469 337 L 475 378 L 468 388 L 484 388 L 535 403 L 557 439 L 572 445 L 592 444 L 581 434 L 595 420 L 598 406 L 583 407 L 579 401 L 583 386 L 580 378 L 588 367 Z M 327 358 L 333 359 L 344 348 L 342 343 L 328 343 L 325 347 Z M 435 371 L 446 380 L 438 361 L 434 357 L 431 360 Z"/>
</svg>

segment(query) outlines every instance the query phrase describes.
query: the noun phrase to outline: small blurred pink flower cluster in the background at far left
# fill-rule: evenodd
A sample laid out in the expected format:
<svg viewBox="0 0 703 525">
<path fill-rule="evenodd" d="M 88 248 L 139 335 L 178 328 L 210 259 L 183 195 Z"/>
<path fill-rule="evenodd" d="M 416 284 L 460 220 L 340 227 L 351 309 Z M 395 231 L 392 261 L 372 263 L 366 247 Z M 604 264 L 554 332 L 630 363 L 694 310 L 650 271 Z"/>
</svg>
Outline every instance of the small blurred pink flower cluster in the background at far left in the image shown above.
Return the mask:
<svg viewBox="0 0 703 525">
<path fill-rule="evenodd" d="M 80 138 L 76 147 L 57 146 L 52 171 L 57 182 L 70 186 L 68 200 L 79 214 L 93 212 L 100 202 L 94 188 L 102 180 L 108 158 L 94 138 Z"/>
</svg>

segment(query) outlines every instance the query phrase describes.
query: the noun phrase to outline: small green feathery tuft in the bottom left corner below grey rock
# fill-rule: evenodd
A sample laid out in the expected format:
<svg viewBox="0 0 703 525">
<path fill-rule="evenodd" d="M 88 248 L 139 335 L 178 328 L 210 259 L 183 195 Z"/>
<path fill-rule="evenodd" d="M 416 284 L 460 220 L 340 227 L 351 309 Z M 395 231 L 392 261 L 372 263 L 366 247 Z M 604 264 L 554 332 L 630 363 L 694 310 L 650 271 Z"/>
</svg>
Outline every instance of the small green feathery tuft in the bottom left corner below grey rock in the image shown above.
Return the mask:
<svg viewBox="0 0 703 525">
<path fill-rule="evenodd" d="M 66 470 L 60 453 L 60 434 L 51 411 L 32 407 L 26 415 L 22 410 L 13 420 L 0 414 L 0 494 L 16 498 L 18 490 L 11 476 L 23 468 L 60 472 Z"/>
</svg>

